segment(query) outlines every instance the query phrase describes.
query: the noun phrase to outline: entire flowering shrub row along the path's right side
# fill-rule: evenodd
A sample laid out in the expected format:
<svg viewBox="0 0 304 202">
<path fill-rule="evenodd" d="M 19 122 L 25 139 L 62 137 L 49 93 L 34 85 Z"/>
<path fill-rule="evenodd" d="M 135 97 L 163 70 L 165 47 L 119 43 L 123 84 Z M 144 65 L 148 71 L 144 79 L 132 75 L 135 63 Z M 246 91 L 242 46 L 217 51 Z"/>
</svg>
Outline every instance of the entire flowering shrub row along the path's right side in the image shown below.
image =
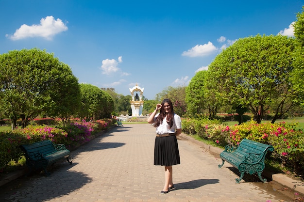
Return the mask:
<svg viewBox="0 0 304 202">
<path fill-rule="evenodd" d="M 238 145 L 243 139 L 272 145 L 274 151 L 269 154 L 271 159 L 280 161 L 286 170 L 295 173 L 304 170 L 304 134 L 298 124 L 284 122 L 257 124 L 250 121 L 240 125 L 226 126 L 205 120 L 186 120 L 182 122 L 182 125 L 184 133 L 197 134 L 220 146 L 228 143 Z"/>
</svg>

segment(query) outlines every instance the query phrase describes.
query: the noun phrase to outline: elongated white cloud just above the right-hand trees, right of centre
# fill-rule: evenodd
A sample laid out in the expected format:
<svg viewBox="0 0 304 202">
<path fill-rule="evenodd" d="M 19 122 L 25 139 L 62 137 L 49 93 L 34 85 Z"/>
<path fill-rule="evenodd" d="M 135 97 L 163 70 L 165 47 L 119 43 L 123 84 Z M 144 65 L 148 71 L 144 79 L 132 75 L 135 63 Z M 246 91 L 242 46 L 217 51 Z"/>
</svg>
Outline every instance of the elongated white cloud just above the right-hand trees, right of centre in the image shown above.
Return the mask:
<svg viewBox="0 0 304 202">
<path fill-rule="evenodd" d="M 199 56 L 206 56 L 210 55 L 212 52 L 216 51 L 218 48 L 213 46 L 213 44 L 209 41 L 208 44 L 204 45 L 196 45 L 191 49 L 184 51 L 182 56 L 189 56 L 189 57 L 199 57 Z"/>
</svg>

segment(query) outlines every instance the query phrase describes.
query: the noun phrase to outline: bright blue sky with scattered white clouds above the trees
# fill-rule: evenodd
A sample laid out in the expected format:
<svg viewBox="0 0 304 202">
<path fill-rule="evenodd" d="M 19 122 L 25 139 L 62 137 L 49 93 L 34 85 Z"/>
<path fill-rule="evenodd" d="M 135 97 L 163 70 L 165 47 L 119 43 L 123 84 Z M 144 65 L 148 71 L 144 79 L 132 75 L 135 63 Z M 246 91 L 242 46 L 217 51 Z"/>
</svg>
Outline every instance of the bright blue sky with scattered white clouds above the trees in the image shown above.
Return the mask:
<svg viewBox="0 0 304 202">
<path fill-rule="evenodd" d="M 154 99 L 187 85 L 222 48 L 256 34 L 293 36 L 304 0 L 0 0 L 0 54 L 38 47 L 79 83 Z"/>
</svg>

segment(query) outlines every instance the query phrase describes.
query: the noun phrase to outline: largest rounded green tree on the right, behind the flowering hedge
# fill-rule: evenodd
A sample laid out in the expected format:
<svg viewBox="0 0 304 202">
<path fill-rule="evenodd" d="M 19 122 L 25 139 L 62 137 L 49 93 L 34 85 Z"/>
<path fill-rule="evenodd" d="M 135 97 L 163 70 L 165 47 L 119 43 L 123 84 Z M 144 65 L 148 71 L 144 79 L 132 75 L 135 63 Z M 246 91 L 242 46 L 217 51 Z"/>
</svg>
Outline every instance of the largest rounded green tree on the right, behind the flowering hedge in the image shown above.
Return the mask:
<svg viewBox="0 0 304 202">
<path fill-rule="evenodd" d="M 209 87 L 232 106 L 248 108 L 260 123 L 282 89 L 281 105 L 287 97 L 296 96 L 289 81 L 293 49 L 294 39 L 282 35 L 239 39 L 209 65 Z"/>
</svg>

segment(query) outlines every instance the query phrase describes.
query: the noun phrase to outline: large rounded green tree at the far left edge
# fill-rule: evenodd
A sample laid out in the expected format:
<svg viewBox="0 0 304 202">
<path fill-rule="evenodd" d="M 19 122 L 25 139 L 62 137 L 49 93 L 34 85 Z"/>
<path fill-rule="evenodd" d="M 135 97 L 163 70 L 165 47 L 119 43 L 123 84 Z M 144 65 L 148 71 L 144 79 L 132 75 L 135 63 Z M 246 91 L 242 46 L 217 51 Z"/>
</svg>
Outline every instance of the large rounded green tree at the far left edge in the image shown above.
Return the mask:
<svg viewBox="0 0 304 202">
<path fill-rule="evenodd" d="M 25 127 L 42 113 L 55 115 L 60 108 L 64 109 L 62 116 L 72 113 L 75 106 L 61 102 L 55 92 L 64 91 L 65 96 L 76 98 L 77 89 L 67 87 L 70 84 L 77 88 L 76 81 L 68 65 L 45 50 L 33 48 L 4 53 L 0 55 L 0 114 L 10 118 L 14 127 L 21 118 L 21 125 Z"/>
</svg>

